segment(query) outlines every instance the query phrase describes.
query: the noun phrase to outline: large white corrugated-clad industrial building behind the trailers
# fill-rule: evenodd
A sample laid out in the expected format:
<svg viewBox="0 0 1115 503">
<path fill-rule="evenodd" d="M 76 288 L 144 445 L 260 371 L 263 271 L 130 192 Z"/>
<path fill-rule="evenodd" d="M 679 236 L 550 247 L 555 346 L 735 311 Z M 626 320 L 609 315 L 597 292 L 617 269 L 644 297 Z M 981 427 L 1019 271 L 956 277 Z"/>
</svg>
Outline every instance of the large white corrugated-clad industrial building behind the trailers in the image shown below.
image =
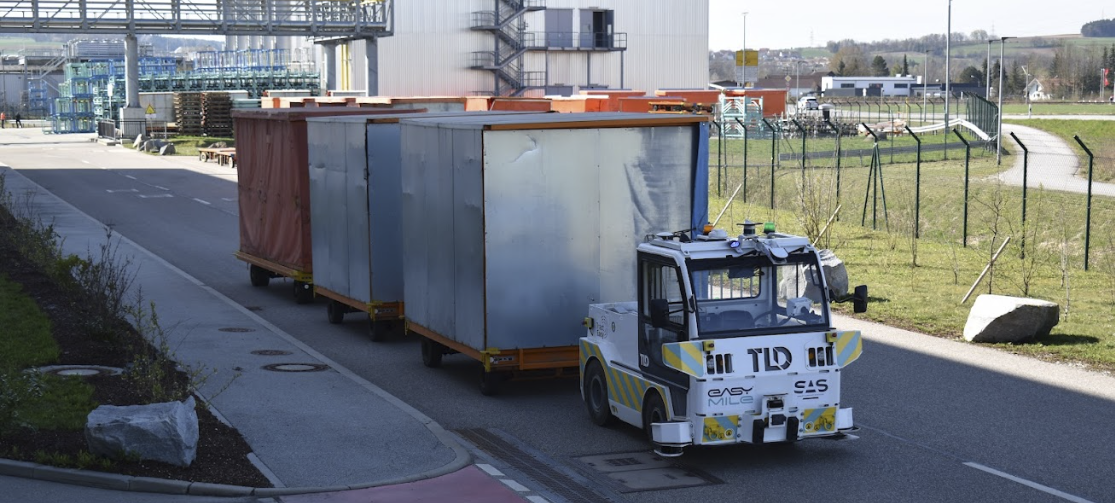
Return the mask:
<svg viewBox="0 0 1115 503">
<path fill-rule="evenodd" d="M 225 48 L 312 54 L 323 88 L 381 96 L 705 88 L 708 0 L 408 0 L 388 37 L 230 36 Z"/>
</svg>

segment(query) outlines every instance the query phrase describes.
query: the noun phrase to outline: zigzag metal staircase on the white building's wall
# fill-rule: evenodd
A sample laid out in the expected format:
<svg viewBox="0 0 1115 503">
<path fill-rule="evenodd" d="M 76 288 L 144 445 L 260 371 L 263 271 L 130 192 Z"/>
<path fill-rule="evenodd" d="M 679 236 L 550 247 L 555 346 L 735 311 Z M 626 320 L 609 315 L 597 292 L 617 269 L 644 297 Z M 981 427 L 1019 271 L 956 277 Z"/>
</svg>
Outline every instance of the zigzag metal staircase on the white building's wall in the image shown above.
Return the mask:
<svg viewBox="0 0 1115 503">
<path fill-rule="evenodd" d="M 491 71 L 493 95 L 522 96 L 545 84 L 543 71 L 525 71 L 523 55 L 544 49 L 536 37 L 527 37 L 523 16 L 544 10 L 545 0 L 492 0 L 493 10 L 473 12 L 472 29 L 493 36 L 493 50 L 473 52 L 469 68 Z"/>
</svg>

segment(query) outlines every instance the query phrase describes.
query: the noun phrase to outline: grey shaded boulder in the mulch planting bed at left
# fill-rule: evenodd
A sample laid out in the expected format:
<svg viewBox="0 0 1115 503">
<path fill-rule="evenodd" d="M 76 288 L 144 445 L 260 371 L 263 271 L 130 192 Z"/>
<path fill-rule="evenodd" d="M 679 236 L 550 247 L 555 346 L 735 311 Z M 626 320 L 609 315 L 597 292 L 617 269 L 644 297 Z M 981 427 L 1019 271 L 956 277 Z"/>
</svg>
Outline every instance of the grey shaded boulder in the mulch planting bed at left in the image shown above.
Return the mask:
<svg viewBox="0 0 1115 503">
<path fill-rule="evenodd" d="M 85 439 L 101 456 L 122 453 L 140 460 L 190 466 L 197 455 L 197 412 L 186 402 L 151 405 L 101 405 L 89 413 Z"/>
</svg>

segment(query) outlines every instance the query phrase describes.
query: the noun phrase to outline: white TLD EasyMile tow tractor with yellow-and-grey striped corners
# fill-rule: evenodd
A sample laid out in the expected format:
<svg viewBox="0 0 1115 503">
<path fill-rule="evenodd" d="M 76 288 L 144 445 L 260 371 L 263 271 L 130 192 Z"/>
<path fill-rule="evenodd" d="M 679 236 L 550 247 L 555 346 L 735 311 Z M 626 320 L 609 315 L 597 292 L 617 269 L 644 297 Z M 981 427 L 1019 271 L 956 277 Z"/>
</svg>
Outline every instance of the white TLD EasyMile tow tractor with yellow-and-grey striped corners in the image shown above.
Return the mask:
<svg viewBox="0 0 1115 503">
<path fill-rule="evenodd" d="M 755 228 L 639 245 L 638 300 L 590 306 L 584 319 L 581 394 L 594 423 L 640 426 L 663 456 L 853 427 L 841 369 L 860 357 L 860 332 L 834 330 L 808 240 Z M 866 287 L 855 292 L 863 312 Z"/>
</svg>

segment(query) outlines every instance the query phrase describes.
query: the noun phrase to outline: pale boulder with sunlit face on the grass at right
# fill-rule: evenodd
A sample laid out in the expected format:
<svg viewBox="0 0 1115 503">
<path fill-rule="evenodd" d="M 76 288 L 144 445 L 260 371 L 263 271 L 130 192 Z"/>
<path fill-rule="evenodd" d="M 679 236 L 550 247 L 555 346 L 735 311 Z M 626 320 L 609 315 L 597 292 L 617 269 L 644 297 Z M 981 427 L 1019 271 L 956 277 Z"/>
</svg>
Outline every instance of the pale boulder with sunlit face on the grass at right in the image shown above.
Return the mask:
<svg viewBox="0 0 1115 503">
<path fill-rule="evenodd" d="M 1022 342 L 1049 333 L 1060 320 L 1054 302 L 1007 296 L 979 296 L 964 323 L 972 342 Z"/>
</svg>

